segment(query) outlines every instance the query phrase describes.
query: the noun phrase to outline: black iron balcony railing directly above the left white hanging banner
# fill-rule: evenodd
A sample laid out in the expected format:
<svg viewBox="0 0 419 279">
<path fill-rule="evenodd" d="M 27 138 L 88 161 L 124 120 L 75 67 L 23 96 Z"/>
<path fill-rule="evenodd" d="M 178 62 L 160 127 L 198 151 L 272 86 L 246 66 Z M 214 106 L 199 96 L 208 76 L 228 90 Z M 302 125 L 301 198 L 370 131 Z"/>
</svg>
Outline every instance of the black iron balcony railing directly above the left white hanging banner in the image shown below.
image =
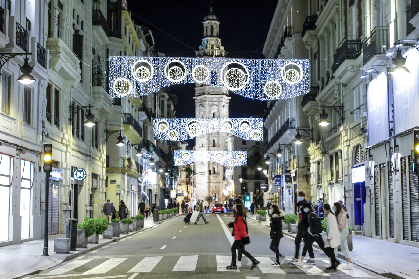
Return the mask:
<svg viewBox="0 0 419 279">
<path fill-rule="evenodd" d="M 364 65 L 376 54 L 384 54 L 386 47 L 390 46 L 389 30 L 387 26 L 377 26 L 362 42 Z M 385 46 L 385 47 L 384 47 Z"/>
</svg>

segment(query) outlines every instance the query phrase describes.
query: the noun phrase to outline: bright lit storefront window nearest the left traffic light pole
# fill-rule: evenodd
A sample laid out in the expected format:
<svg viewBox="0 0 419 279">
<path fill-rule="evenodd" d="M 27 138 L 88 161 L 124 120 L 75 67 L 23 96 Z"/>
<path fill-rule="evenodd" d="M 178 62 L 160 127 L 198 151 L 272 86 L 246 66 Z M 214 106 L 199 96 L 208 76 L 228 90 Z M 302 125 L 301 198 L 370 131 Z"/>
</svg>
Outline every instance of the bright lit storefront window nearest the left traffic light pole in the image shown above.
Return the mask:
<svg viewBox="0 0 419 279">
<path fill-rule="evenodd" d="M 34 183 L 34 163 L 26 160 L 21 161 L 21 238 L 30 236 L 31 223 L 31 188 Z"/>
</svg>

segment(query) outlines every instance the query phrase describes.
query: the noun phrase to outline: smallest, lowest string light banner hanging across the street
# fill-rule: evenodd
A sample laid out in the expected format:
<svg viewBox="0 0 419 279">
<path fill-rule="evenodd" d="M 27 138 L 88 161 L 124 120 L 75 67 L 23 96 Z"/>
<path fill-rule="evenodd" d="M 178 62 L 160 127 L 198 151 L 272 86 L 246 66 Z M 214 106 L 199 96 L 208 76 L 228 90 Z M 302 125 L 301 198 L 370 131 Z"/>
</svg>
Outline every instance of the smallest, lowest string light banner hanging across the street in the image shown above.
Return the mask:
<svg viewBox="0 0 419 279">
<path fill-rule="evenodd" d="M 243 166 L 247 164 L 247 151 L 181 151 L 173 154 L 175 166 L 184 166 L 197 161 L 211 161 L 223 166 Z"/>
</svg>

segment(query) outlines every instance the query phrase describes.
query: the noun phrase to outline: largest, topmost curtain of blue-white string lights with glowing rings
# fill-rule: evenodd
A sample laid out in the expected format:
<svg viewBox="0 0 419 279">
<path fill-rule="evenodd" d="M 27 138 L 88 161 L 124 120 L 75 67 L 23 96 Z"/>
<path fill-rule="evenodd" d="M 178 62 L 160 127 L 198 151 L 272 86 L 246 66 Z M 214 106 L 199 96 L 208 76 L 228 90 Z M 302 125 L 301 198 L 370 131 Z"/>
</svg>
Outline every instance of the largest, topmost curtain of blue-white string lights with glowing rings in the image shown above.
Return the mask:
<svg viewBox="0 0 419 279">
<path fill-rule="evenodd" d="M 110 97 L 144 96 L 172 84 L 225 87 L 258 100 L 308 93 L 308 60 L 173 57 L 109 57 Z"/>
</svg>

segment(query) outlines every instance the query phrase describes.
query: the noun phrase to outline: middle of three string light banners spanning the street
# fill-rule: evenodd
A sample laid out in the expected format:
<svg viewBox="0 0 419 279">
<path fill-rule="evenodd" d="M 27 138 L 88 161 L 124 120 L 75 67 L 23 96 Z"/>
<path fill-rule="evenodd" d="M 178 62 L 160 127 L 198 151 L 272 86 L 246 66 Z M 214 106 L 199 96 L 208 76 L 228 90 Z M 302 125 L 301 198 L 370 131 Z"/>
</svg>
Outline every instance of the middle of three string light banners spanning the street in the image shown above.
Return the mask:
<svg viewBox="0 0 419 279">
<path fill-rule="evenodd" d="M 248 141 L 263 141 L 263 118 L 156 118 L 154 137 L 186 141 L 208 133 L 231 133 Z"/>
</svg>

